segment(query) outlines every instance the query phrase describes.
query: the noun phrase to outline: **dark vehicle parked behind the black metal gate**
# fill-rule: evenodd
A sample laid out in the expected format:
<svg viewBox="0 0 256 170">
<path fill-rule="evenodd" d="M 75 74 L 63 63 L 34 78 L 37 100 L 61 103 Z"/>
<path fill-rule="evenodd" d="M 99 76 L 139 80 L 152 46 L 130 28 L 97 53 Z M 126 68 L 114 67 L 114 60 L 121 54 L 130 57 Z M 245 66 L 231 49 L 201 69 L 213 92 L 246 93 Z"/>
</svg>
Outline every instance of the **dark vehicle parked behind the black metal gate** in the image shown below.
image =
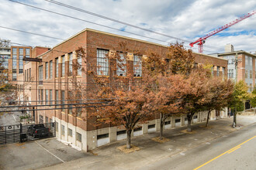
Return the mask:
<svg viewBox="0 0 256 170">
<path fill-rule="evenodd" d="M 26 131 L 26 134 L 33 136 L 33 138 L 40 138 L 49 136 L 50 129 L 45 127 L 44 124 L 32 124 Z"/>
</svg>

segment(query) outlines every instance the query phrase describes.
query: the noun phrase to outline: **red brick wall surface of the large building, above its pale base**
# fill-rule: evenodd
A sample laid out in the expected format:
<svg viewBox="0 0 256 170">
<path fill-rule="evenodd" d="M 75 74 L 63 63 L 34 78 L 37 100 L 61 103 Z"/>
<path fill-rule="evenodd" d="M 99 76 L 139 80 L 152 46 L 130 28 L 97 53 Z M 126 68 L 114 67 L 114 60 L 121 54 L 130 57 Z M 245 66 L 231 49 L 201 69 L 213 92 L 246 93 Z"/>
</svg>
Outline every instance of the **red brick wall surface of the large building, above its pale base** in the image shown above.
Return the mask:
<svg viewBox="0 0 256 170">
<path fill-rule="evenodd" d="M 123 49 L 119 46 L 119 43 L 126 44 L 126 48 Z M 49 53 L 46 53 L 42 56 L 43 62 L 38 63 L 38 66 L 43 65 L 43 89 L 53 90 L 53 99 L 55 99 L 55 90 L 59 90 L 59 100 L 61 99 L 61 90 L 66 90 L 65 97 L 67 97 L 67 82 L 70 77 L 67 77 L 67 70 L 68 67 L 65 66 L 65 76 L 61 79 L 61 64 L 59 64 L 59 77 L 55 78 L 55 58 L 58 56 L 63 56 L 65 53 L 71 53 L 74 50 L 78 49 L 78 47 L 84 47 L 86 56 L 88 59 L 88 63 L 91 63 L 92 66 L 96 66 L 96 57 L 97 57 L 97 49 L 113 49 L 116 51 L 127 51 L 130 53 L 140 53 L 140 55 L 148 55 L 150 52 L 158 53 L 159 55 L 165 55 L 168 53 L 168 48 L 164 46 L 158 46 L 156 44 L 137 41 L 134 39 L 126 39 L 119 36 L 112 36 L 106 33 L 101 32 L 94 32 L 91 30 L 81 32 L 77 36 L 68 39 L 66 42 L 61 43 L 61 45 L 55 46 L 53 50 Z M 74 56 L 73 56 L 74 59 Z M 52 80 L 45 80 L 45 62 L 50 62 L 53 60 L 53 79 Z M 216 66 L 223 66 L 227 72 L 227 60 L 224 59 L 217 59 L 211 56 L 205 55 L 196 55 L 195 56 L 196 63 L 209 63 Z M 86 65 L 87 63 L 82 63 Z M 38 70 L 37 66 L 37 70 Z M 87 65 L 88 66 L 88 65 Z M 129 62 L 130 68 L 133 68 L 133 62 Z M 86 70 L 87 67 L 85 67 Z M 50 66 L 49 66 L 50 69 Z M 130 69 L 133 71 L 133 69 Z M 50 73 L 50 70 L 48 71 Z M 73 73 L 75 73 L 73 71 Z M 38 76 L 38 75 L 37 75 Z M 75 75 L 74 75 L 75 76 Z M 92 77 L 85 75 L 82 73 L 81 76 L 77 77 L 77 81 L 80 81 L 83 84 L 86 83 L 93 83 Z M 135 81 L 140 80 L 140 78 L 134 79 Z M 61 81 L 63 83 L 61 83 Z M 38 86 L 40 87 L 40 86 Z M 41 88 L 41 87 L 40 87 Z M 86 86 L 85 90 L 90 90 L 93 86 Z M 36 91 L 37 92 L 37 91 Z M 43 92 L 45 97 L 45 91 Z M 37 95 L 37 94 L 36 94 Z M 45 107 L 47 108 L 47 107 Z M 86 116 L 87 112 L 84 112 L 82 117 Z M 94 126 L 93 118 L 87 119 L 86 121 L 82 121 L 81 119 L 75 119 L 71 116 L 67 115 L 67 111 L 64 114 L 61 114 L 61 110 L 45 110 L 45 115 L 47 117 L 52 117 L 56 115 L 56 117 L 61 118 L 61 120 L 67 121 L 71 124 L 77 124 L 79 128 L 84 129 L 85 131 L 92 131 L 96 129 Z M 102 124 L 102 127 L 109 127 L 109 124 Z"/>
</svg>

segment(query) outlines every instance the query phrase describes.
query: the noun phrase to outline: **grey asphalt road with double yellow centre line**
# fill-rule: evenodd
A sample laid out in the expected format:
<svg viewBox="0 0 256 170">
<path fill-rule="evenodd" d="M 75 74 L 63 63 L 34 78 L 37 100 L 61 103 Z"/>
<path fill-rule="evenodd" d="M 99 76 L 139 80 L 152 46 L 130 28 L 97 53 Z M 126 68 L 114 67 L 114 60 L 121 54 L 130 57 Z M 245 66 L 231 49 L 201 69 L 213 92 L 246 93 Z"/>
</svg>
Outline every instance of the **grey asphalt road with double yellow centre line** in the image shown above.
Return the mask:
<svg viewBox="0 0 256 170">
<path fill-rule="evenodd" d="M 256 124 L 140 169 L 256 169 Z"/>
</svg>

